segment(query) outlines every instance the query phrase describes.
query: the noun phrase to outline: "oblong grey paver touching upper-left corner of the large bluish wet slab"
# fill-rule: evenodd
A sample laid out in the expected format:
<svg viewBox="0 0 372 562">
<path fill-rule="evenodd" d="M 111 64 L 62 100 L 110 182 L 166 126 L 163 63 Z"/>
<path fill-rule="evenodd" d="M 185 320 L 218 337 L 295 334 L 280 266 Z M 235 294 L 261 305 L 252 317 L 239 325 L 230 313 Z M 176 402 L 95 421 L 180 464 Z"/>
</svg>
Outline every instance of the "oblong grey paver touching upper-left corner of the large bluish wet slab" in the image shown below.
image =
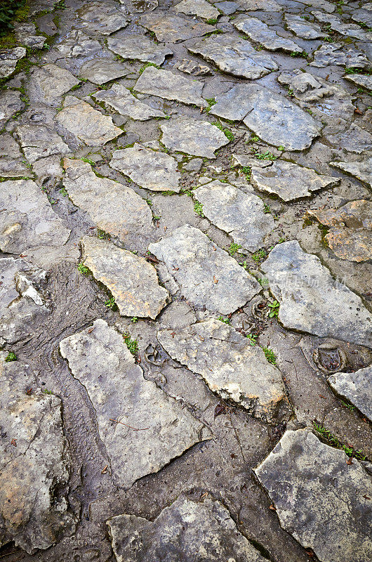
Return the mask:
<svg viewBox="0 0 372 562">
<path fill-rule="evenodd" d="M 206 100 L 201 98 L 203 82 L 184 78 L 169 70 L 159 70 L 153 66 L 145 68 L 134 86 L 135 91 L 149 93 L 166 100 L 178 100 L 206 107 Z"/>
</svg>

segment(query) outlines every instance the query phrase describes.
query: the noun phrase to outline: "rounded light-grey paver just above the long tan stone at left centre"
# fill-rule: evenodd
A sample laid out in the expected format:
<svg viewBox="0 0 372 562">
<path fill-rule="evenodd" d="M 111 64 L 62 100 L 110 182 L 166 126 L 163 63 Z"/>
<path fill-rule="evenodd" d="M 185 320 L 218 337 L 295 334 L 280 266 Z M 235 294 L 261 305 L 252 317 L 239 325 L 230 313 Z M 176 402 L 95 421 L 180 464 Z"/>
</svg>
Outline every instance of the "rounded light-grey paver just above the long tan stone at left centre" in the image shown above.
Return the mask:
<svg viewBox="0 0 372 562">
<path fill-rule="evenodd" d="M 133 148 L 115 150 L 109 165 L 138 183 L 141 188 L 152 191 L 180 190 L 177 160 L 164 152 L 135 143 Z"/>
</svg>

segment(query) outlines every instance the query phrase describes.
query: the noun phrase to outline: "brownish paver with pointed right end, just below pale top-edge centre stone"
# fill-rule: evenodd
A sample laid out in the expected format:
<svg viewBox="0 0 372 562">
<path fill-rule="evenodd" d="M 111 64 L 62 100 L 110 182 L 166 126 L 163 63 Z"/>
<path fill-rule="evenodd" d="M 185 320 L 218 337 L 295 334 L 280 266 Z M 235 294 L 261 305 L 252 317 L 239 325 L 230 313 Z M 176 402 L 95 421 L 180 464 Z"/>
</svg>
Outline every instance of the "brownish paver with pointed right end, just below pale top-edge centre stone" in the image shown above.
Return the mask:
<svg viewBox="0 0 372 562">
<path fill-rule="evenodd" d="M 154 32 L 158 41 L 166 43 L 202 37 L 206 33 L 215 31 L 213 25 L 180 18 L 178 15 L 168 15 L 164 12 L 142 15 L 140 24 L 147 30 Z"/>
</svg>

